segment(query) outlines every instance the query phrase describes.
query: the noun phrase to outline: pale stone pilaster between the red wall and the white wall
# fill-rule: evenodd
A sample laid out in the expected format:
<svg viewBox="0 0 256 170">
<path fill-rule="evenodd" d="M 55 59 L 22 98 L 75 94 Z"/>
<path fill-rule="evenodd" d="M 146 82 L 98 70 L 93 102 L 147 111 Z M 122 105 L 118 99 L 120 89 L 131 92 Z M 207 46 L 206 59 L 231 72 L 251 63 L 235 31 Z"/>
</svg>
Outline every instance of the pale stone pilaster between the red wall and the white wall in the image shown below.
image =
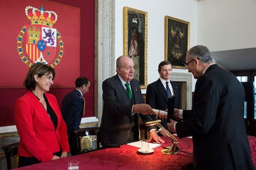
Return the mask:
<svg viewBox="0 0 256 170">
<path fill-rule="evenodd" d="M 101 124 L 103 113 L 102 83 L 116 74 L 115 1 L 95 0 L 95 116 Z"/>
</svg>

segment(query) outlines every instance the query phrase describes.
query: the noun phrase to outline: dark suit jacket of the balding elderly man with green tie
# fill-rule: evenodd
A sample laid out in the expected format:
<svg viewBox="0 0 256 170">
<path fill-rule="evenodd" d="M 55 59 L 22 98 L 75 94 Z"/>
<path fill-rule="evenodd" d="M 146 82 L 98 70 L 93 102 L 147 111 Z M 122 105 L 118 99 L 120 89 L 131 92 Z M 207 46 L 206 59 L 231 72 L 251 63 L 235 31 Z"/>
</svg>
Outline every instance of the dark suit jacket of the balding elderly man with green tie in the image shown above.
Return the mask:
<svg viewBox="0 0 256 170">
<path fill-rule="evenodd" d="M 122 145 L 139 140 L 139 114 L 132 116 L 132 104 L 143 103 L 138 80 L 131 80 L 132 100 L 118 75 L 103 82 L 103 115 L 101 119 L 101 145 Z M 142 116 L 143 121 L 151 117 Z"/>
</svg>

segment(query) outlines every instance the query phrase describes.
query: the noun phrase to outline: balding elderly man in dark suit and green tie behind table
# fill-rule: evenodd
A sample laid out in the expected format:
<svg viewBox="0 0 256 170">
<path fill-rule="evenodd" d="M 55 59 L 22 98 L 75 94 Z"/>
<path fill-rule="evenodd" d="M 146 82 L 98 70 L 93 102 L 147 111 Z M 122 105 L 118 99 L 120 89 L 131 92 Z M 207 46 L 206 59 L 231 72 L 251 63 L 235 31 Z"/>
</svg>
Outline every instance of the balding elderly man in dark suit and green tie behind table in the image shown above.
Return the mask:
<svg viewBox="0 0 256 170">
<path fill-rule="evenodd" d="M 116 61 L 117 74 L 103 82 L 103 115 L 101 145 L 111 147 L 139 140 L 139 115 L 144 122 L 154 114 L 150 105 L 143 103 L 140 83 L 134 79 L 134 62 L 121 56 Z M 139 113 L 139 114 L 138 114 Z M 163 143 L 156 129 L 149 127 L 150 140 Z"/>
</svg>

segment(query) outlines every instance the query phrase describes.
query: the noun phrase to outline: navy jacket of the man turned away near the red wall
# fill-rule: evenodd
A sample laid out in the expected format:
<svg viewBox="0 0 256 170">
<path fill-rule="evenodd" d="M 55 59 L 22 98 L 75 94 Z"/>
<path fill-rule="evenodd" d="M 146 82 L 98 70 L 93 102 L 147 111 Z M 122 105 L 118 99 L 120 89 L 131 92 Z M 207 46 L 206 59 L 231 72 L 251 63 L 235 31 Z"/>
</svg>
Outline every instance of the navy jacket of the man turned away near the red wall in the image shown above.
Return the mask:
<svg viewBox="0 0 256 170">
<path fill-rule="evenodd" d="M 73 90 L 64 96 L 61 104 L 61 113 L 67 124 L 67 132 L 79 129 L 83 116 L 83 102 L 79 91 Z"/>
</svg>

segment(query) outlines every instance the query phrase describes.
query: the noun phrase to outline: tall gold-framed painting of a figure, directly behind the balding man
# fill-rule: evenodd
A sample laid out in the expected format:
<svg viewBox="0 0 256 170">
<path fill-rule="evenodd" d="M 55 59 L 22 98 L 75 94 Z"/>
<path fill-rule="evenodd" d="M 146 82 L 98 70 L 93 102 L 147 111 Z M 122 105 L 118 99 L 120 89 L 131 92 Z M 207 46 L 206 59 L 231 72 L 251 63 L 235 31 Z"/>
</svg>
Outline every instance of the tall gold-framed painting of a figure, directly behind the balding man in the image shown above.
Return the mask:
<svg viewBox="0 0 256 170">
<path fill-rule="evenodd" d="M 147 88 L 147 12 L 124 7 L 124 55 L 134 61 L 134 79 Z"/>
</svg>

